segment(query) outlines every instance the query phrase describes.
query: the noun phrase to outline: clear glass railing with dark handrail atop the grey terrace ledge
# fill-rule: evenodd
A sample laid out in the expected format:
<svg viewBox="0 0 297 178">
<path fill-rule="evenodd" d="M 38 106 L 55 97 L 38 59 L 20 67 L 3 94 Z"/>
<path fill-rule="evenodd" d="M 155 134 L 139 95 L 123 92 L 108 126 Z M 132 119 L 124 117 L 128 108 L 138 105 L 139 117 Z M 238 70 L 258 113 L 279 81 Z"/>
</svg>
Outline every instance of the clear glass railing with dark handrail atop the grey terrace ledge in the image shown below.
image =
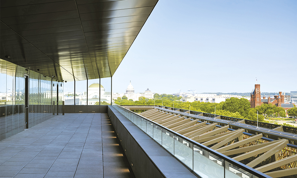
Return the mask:
<svg viewBox="0 0 297 178">
<path fill-rule="evenodd" d="M 267 177 L 228 156 L 178 134 L 115 103 L 112 106 L 148 136 L 202 178 Z"/>
</svg>

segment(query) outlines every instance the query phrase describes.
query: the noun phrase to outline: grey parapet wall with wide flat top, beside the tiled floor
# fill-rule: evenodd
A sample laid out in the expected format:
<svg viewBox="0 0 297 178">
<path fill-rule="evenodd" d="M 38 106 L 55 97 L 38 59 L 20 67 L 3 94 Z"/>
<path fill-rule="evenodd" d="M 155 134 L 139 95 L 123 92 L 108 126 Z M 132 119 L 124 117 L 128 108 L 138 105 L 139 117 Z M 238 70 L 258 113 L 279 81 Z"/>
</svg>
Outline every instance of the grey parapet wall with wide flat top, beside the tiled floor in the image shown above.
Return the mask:
<svg viewBox="0 0 297 178">
<path fill-rule="evenodd" d="M 136 178 L 197 178 L 112 106 L 108 106 L 108 116 Z"/>
</svg>

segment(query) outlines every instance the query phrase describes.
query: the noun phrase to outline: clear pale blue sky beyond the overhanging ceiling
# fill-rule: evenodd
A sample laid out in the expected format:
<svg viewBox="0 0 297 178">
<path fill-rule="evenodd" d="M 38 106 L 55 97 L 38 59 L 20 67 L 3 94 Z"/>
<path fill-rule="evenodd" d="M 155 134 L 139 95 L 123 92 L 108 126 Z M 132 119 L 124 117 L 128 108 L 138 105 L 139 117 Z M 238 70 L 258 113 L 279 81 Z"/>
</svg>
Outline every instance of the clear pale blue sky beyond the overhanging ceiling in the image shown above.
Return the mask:
<svg viewBox="0 0 297 178">
<path fill-rule="evenodd" d="M 297 90 L 297 3 L 159 0 L 113 75 L 113 92 Z"/>
</svg>

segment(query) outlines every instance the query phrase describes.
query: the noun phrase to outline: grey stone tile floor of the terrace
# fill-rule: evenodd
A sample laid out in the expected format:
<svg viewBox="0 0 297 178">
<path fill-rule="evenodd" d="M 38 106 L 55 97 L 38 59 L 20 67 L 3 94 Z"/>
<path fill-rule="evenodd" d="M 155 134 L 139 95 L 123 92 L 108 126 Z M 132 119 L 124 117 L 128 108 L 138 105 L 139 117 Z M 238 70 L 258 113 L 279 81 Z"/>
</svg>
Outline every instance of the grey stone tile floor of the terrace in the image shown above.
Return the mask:
<svg viewBox="0 0 297 178">
<path fill-rule="evenodd" d="M 1 178 L 134 178 L 105 113 L 59 115 L 0 142 Z"/>
</svg>

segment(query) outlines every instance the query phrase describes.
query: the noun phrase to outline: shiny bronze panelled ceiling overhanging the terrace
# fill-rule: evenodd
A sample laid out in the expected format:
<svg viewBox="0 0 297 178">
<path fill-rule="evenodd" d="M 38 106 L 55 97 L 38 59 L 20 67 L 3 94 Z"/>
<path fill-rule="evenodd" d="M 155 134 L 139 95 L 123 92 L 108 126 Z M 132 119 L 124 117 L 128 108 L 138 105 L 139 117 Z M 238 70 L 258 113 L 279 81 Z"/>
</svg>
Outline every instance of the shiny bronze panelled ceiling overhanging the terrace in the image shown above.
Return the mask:
<svg viewBox="0 0 297 178">
<path fill-rule="evenodd" d="M 59 81 L 110 77 L 157 1 L 1 0 L 0 58 Z"/>
</svg>

